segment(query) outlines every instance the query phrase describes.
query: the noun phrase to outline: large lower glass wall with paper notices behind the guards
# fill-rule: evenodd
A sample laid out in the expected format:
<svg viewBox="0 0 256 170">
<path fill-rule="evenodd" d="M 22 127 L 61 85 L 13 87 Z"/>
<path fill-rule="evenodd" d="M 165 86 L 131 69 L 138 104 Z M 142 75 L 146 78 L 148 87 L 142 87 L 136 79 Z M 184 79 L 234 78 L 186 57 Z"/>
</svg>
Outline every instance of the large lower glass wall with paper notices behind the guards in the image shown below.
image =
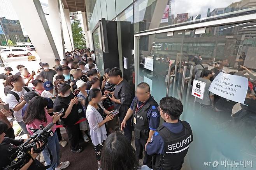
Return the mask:
<svg viewBox="0 0 256 170">
<path fill-rule="evenodd" d="M 170 65 L 169 96 L 182 96 L 181 119 L 191 125 L 194 140 L 184 169 L 255 168 L 256 22 L 145 35 L 138 43 L 139 82 L 147 82 L 159 101 L 167 94 Z M 229 84 L 226 76 L 237 81 Z M 196 80 L 208 87 L 202 100 L 191 95 Z M 229 91 L 234 92 L 226 96 Z M 238 91 L 241 95 L 232 97 Z M 236 168 L 234 162 L 239 162 Z"/>
</svg>

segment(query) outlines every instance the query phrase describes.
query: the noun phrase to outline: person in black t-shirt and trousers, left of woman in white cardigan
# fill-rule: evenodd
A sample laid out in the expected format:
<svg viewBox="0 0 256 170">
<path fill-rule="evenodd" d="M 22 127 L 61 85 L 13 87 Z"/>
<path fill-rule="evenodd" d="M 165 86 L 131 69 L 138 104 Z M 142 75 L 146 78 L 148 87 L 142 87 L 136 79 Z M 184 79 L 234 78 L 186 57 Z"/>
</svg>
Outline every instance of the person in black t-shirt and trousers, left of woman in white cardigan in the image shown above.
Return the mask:
<svg viewBox="0 0 256 170">
<path fill-rule="evenodd" d="M 69 84 L 61 83 L 57 88 L 58 95 L 53 104 L 54 112 L 64 109 L 61 124 L 63 124 L 67 131 L 71 151 L 73 153 L 81 153 L 83 149 L 79 147 L 79 124 L 75 123 L 84 116 L 83 107 L 77 97 L 71 92 Z"/>
</svg>

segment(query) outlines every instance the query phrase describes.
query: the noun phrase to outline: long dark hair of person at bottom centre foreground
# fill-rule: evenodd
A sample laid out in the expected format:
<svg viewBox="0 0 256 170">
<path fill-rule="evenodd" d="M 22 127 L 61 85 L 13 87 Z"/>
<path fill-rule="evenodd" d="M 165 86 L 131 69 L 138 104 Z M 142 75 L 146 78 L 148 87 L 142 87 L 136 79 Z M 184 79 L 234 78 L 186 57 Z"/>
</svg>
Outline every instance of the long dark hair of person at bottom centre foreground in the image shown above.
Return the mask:
<svg viewBox="0 0 256 170">
<path fill-rule="evenodd" d="M 102 170 L 137 170 L 140 163 L 135 149 L 120 132 L 111 133 L 102 148 Z"/>
</svg>

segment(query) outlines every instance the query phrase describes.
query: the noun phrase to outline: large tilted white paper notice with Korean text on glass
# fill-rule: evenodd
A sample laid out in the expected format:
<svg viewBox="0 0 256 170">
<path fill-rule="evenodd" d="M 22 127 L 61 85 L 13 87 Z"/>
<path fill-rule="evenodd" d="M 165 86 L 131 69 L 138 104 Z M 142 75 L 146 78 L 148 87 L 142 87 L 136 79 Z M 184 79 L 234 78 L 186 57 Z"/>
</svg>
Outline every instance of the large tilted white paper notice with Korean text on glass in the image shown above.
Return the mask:
<svg viewBox="0 0 256 170">
<path fill-rule="evenodd" d="M 210 84 L 209 91 L 238 103 L 244 103 L 248 79 L 239 75 L 220 72 Z"/>
</svg>

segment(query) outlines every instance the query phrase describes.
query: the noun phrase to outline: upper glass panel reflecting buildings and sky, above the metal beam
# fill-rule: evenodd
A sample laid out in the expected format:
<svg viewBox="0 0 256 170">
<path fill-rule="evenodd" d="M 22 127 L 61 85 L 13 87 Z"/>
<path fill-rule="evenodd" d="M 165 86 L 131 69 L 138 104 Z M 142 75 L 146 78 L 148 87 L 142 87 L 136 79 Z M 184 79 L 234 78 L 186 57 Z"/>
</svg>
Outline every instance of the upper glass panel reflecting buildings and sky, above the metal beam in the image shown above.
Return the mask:
<svg viewBox="0 0 256 170">
<path fill-rule="evenodd" d="M 256 0 L 137 0 L 135 31 L 255 12 Z"/>
</svg>

